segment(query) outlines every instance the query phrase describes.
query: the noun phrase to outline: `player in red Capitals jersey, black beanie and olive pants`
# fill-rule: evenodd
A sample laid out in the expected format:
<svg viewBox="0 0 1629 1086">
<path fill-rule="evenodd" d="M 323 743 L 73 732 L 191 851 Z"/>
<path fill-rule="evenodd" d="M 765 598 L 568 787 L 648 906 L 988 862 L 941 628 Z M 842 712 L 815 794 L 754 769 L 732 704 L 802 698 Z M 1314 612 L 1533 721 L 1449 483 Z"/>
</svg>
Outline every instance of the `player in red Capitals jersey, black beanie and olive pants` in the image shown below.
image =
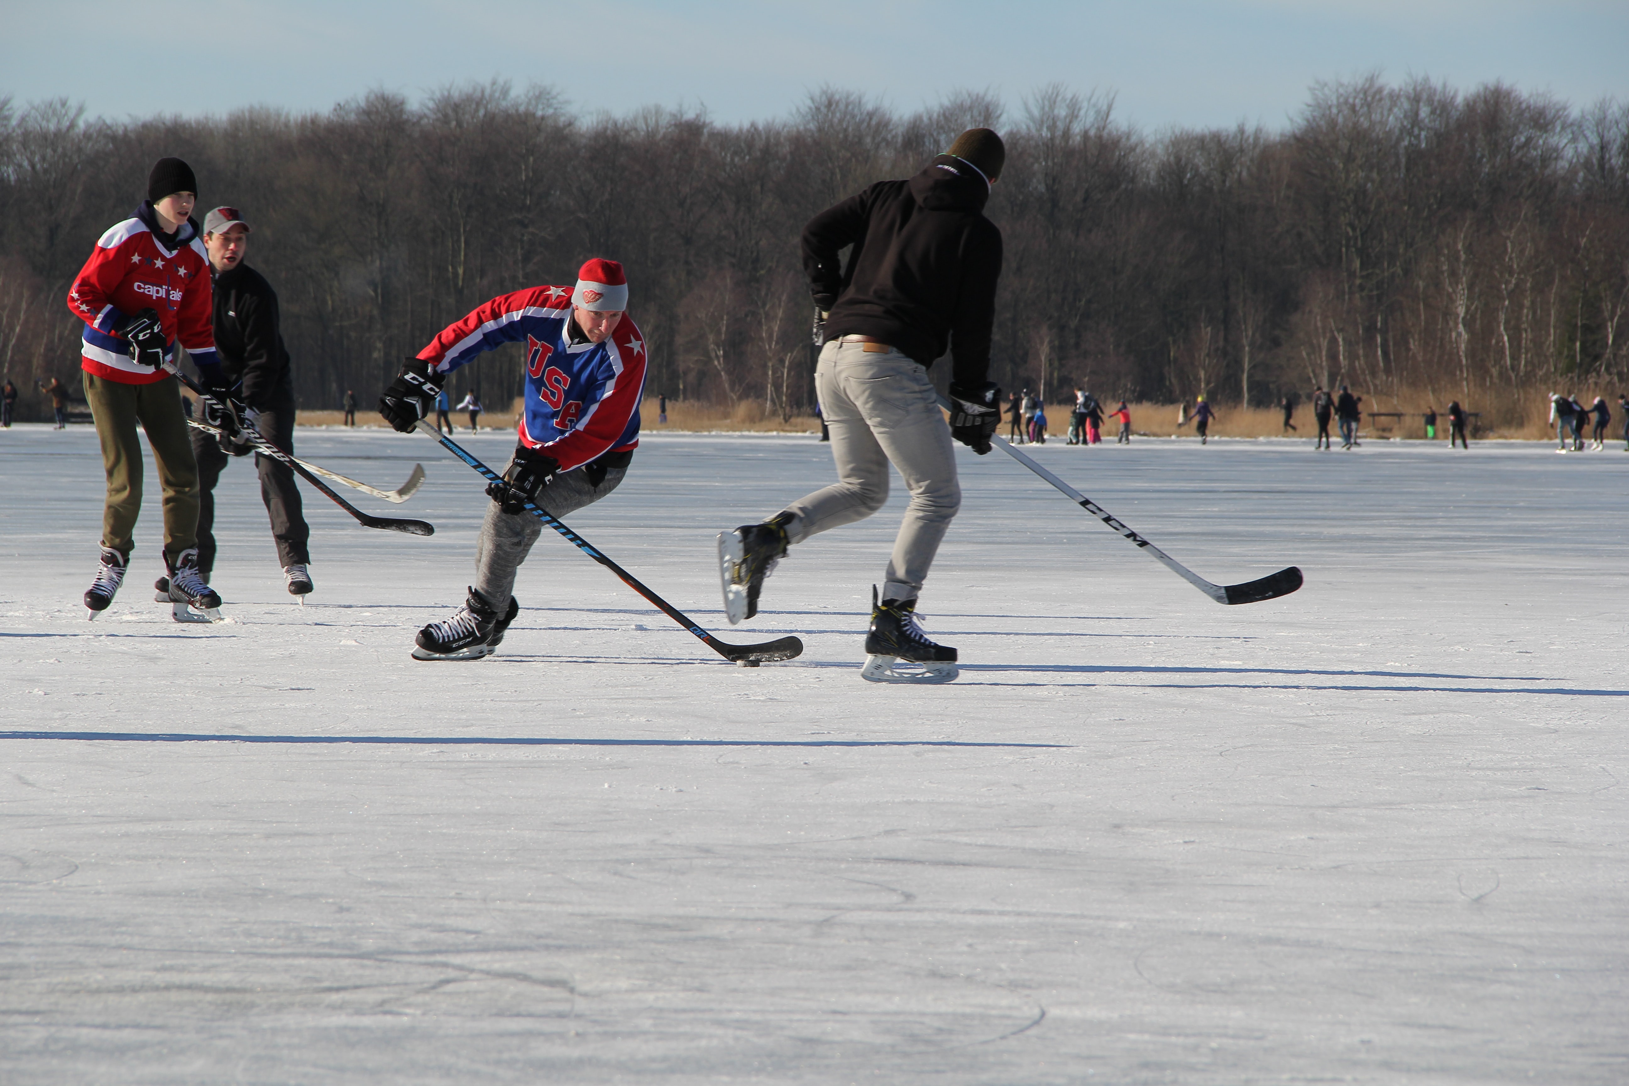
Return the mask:
<svg viewBox="0 0 1629 1086">
<path fill-rule="evenodd" d="M 195 202 L 192 168 L 179 158 L 158 160 L 147 200 L 101 236 L 68 290 L 68 309 L 85 321 L 80 368 L 108 475 L 101 567 L 85 593 L 91 619 L 112 602 L 135 545 L 142 510 L 137 423 L 165 490 L 165 570 L 174 617 L 220 617 L 220 596 L 199 571 L 199 480 L 181 391 L 160 368 L 181 344 L 204 386 L 225 388 L 210 331 L 209 259 L 192 220 Z"/>
</svg>

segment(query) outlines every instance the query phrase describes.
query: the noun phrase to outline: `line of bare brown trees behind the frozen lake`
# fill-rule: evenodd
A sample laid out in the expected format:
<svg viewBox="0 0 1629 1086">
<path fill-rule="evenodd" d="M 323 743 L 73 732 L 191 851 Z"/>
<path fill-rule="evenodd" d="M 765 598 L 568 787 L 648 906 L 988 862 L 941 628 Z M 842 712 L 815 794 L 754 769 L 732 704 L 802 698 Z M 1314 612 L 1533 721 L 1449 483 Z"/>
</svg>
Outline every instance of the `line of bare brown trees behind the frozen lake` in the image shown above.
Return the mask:
<svg viewBox="0 0 1629 1086">
<path fill-rule="evenodd" d="M 481 301 L 606 256 L 629 272 L 650 394 L 790 417 L 813 399 L 801 225 L 973 125 L 1008 150 L 987 208 L 1007 389 L 1259 405 L 1349 383 L 1486 402 L 1629 376 L 1629 104 L 1378 77 L 1315 85 L 1282 130 L 1155 134 L 1059 85 L 907 114 L 823 88 L 735 125 L 588 116 L 503 81 L 323 114 L 109 120 L 0 99 L 0 371 L 77 386 L 68 285 L 176 155 L 200 220 L 230 204 L 254 226 L 301 407 L 368 402 Z M 497 405 L 520 381 L 500 352 L 454 391 Z"/>
</svg>

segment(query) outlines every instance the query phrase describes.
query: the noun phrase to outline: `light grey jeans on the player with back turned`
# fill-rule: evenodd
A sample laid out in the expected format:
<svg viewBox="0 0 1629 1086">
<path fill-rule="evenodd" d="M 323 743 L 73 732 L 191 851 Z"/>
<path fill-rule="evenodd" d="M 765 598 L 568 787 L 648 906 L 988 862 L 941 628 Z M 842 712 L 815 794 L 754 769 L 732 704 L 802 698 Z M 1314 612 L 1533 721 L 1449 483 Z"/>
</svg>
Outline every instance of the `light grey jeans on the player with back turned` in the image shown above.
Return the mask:
<svg viewBox="0 0 1629 1086">
<path fill-rule="evenodd" d="M 865 519 L 888 500 L 888 466 L 911 492 L 883 599 L 915 599 L 951 518 L 961 508 L 955 443 L 927 370 L 899 352 L 826 344 L 814 370 L 821 414 L 831 427 L 837 482 L 787 506 L 792 542 Z"/>
</svg>

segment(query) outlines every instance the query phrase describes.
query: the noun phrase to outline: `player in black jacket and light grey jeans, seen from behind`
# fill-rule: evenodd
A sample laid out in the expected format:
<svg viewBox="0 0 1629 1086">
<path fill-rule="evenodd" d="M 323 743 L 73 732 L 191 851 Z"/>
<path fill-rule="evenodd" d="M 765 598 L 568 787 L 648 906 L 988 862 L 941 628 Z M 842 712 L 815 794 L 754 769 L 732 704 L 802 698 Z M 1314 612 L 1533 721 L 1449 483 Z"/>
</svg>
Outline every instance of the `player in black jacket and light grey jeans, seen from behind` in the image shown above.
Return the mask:
<svg viewBox="0 0 1629 1086">
<path fill-rule="evenodd" d="M 880 601 L 872 588 L 860 674 L 878 682 L 956 677 L 956 650 L 927 638 L 915 607 L 961 505 L 953 438 L 982 456 L 1000 423 L 1000 389 L 987 371 L 1002 234 L 982 212 L 1005 156 L 999 135 L 969 129 L 915 177 L 873 184 L 803 228 L 803 267 L 824 319 L 814 384 L 837 482 L 762 524 L 718 536 L 731 624 L 757 614 L 764 578 L 792 544 L 883 506 L 891 462 L 911 503 Z M 844 267 L 839 251 L 850 244 Z M 946 340 L 948 427 L 927 376 Z"/>
</svg>

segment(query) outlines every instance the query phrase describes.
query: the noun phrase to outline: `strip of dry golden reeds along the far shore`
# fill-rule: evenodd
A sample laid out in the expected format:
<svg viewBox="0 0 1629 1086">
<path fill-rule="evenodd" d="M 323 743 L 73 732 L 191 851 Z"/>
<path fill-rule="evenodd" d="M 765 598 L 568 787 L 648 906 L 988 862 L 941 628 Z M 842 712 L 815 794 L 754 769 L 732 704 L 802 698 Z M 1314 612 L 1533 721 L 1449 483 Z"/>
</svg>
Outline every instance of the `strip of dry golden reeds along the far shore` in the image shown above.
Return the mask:
<svg viewBox="0 0 1629 1086">
<path fill-rule="evenodd" d="M 1561 391 L 1561 389 L 1557 389 Z M 1569 389 L 1570 392 L 1570 389 Z M 1455 396 L 1432 396 L 1429 392 L 1406 392 L 1403 396 L 1363 396 L 1363 425 L 1360 433 L 1370 440 L 1377 438 L 1399 438 L 1399 440 L 1424 440 L 1425 438 L 1425 407 L 1437 409 L 1437 440 L 1448 440 L 1448 402 L 1458 399 Z M 1613 412 L 1613 425 L 1609 433 L 1613 436 L 1622 435 L 1622 409 L 1618 405 L 1618 389 L 1587 389 L 1583 392 L 1574 392 L 1585 407 L 1595 402 L 1596 396 L 1605 396 L 1608 407 Z M 1318 423 L 1313 420 L 1313 410 L 1310 405 L 1310 396 L 1295 405 L 1295 414 L 1290 422 L 1295 423 L 1295 430 L 1284 428 L 1284 409 L 1280 407 L 1236 407 L 1230 404 L 1212 404 L 1217 417 L 1210 420 L 1210 436 L 1212 438 L 1311 438 L 1318 431 Z M 1070 396 L 1069 402 L 1047 404 L 1046 405 L 1046 440 L 1047 443 L 1067 441 L 1069 438 L 1069 409 L 1074 404 Z M 1510 392 L 1494 394 L 1489 399 L 1461 399 L 1460 404 L 1468 410 L 1474 412 L 1471 436 L 1481 440 L 1507 440 L 1507 441 L 1541 441 L 1554 440 L 1556 427 L 1548 422 L 1549 418 L 1549 391 L 1548 389 L 1531 389 L 1521 396 Z M 678 402 L 668 401 L 668 422 L 658 422 L 660 412 L 656 410 L 656 401 L 647 399 L 640 405 L 640 427 L 645 431 L 694 431 L 694 433 L 818 433 L 819 418 L 813 415 L 795 414 L 790 420 L 782 422 L 779 412 L 771 412 L 764 407 L 761 401 L 743 401 L 735 407 L 727 404 L 694 404 L 694 402 Z M 1111 410 L 1114 402 L 1104 404 L 1106 410 Z M 1131 404 L 1131 423 L 1132 431 L 1137 435 L 1150 438 L 1197 438 L 1194 431 L 1194 423 L 1189 420 L 1186 425 L 1178 427 L 1178 404 L 1150 404 L 1135 402 Z M 520 415 L 520 402 L 516 401 L 503 412 L 482 412 L 481 430 L 513 430 Z M 1188 402 L 1188 412 L 1192 414 L 1192 401 Z M 1401 418 L 1372 418 L 1370 412 L 1401 412 Z M 453 425 L 456 433 L 469 433 L 469 414 L 468 412 L 451 412 Z M 337 427 L 344 423 L 344 414 L 337 410 L 301 410 L 300 425 L 303 427 Z M 357 410 L 358 427 L 383 427 L 384 420 L 380 418 L 378 412 L 371 405 Z M 997 431 L 1007 436 L 1007 417 L 1002 417 L 1002 428 Z M 1119 427 L 1113 420 L 1104 423 L 1104 435 L 1108 441 L 1114 440 Z M 1331 427 L 1333 430 L 1333 427 Z"/>
</svg>

